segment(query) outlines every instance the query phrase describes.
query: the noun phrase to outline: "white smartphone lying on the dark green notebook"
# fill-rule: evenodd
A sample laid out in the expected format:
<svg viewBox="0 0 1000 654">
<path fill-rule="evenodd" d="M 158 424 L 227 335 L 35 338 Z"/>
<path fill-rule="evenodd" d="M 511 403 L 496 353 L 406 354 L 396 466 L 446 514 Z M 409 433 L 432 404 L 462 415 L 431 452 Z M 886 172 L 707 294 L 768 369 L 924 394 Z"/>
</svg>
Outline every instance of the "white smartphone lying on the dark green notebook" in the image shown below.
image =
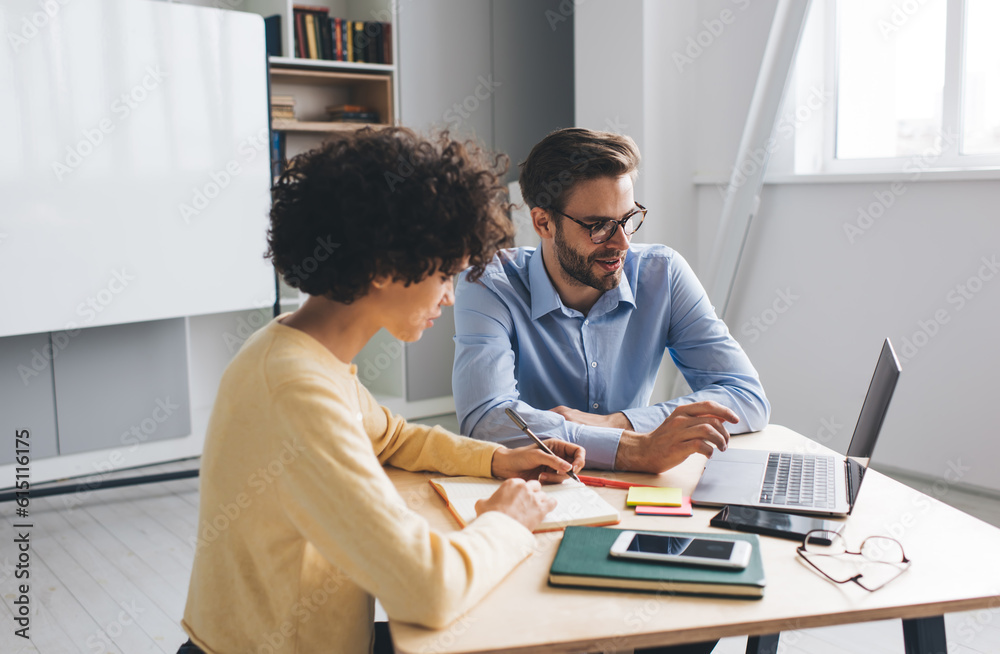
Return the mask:
<svg viewBox="0 0 1000 654">
<path fill-rule="evenodd" d="M 742 540 L 623 531 L 611 546 L 611 556 L 742 570 L 750 563 L 751 549 L 750 543 Z"/>
</svg>

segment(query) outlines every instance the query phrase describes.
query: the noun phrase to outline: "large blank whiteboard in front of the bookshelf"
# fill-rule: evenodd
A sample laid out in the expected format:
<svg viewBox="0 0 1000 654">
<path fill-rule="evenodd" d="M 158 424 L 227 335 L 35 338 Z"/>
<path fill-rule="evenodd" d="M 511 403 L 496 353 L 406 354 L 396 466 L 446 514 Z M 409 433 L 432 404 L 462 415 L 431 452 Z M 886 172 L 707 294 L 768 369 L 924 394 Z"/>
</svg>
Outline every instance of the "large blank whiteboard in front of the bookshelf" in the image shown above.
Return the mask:
<svg viewBox="0 0 1000 654">
<path fill-rule="evenodd" d="M 256 14 L 0 5 L 0 336 L 274 301 Z"/>
</svg>

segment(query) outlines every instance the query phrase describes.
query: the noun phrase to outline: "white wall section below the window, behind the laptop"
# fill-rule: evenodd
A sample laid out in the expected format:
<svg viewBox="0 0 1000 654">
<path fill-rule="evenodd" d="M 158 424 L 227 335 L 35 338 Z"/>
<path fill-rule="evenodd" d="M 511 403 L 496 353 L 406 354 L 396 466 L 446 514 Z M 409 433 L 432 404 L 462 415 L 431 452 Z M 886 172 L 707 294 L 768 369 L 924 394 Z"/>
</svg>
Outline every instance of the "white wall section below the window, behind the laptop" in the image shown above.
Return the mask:
<svg viewBox="0 0 1000 654">
<path fill-rule="evenodd" d="M 852 243 L 844 224 L 873 194 L 891 193 L 890 182 L 767 186 L 730 328 L 761 374 L 772 420 L 841 451 L 890 337 L 903 374 L 876 467 L 949 482 L 957 469 L 963 484 L 1000 489 L 1000 441 L 988 413 L 1000 367 L 1000 271 L 983 261 L 1000 264 L 1000 185 L 897 188 L 905 192 Z M 791 306 L 772 314 L 779 294 L 793 296 Z"/>
</svg>

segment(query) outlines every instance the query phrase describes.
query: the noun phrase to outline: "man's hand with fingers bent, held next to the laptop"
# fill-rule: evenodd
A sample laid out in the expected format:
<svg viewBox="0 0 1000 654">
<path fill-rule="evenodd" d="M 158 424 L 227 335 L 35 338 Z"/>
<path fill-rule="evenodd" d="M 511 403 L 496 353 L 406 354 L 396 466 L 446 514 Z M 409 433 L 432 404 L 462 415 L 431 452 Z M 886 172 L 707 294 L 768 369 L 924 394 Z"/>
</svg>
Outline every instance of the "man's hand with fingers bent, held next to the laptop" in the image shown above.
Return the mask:
<svg viewBox="0 0 1000 654">
<path fill-rule="evenodd" d="M 739 416 L 718 402 L 695 402 L 677 407 L 649 433 L 623 432 L 615 469 L 659 473 L 673 468 L 695 452 L 710 457 L 714 448 L 725 450 L 729 443 L 724 423 L 739 421 Z"/>
</svg>

